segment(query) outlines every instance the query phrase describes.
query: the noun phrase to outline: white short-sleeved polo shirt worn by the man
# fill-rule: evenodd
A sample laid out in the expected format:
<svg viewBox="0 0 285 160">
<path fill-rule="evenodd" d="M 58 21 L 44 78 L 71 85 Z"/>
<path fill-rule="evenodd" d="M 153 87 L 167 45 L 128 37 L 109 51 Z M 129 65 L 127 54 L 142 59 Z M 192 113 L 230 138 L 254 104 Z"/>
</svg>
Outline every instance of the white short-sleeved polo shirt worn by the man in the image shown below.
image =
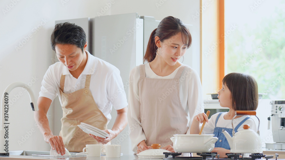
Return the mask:
<svg viewBox="0 0 285 160">
<path fill-rule="evenodd" d="M 42 80 L 39 97 L 47 97 L 52 101 L 60 95 L 60 77 L 66 75 L 64 93 L 72 93 L 85 87 L 86 75 L 91 74 L 90 90 L 100 111 L 108 123 L 111 119 L 112 105 L 119 110 L 127 107 L 127 97 L 124 90 L 120 71 L 110 63 L 91 55 L 88 51 L 87 63 L 78 77 L 74 78 L 67 67 L 61 62 L 51 65 Z M 62 97 L 58 96 L 62 105 Z"/>
</svg>

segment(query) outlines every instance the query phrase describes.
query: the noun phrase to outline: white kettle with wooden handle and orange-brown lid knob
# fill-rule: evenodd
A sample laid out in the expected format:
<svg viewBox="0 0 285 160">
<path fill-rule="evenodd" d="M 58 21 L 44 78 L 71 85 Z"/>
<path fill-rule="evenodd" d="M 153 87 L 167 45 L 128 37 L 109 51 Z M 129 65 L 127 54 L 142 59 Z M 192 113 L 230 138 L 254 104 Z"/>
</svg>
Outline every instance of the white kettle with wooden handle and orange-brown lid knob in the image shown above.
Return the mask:
<svg viewBox="0 0 285 160">
<path fill-rule="evenodd" d="M 237 115 L 255 115 L 256 111 L 236 111 L 235 117 Z M 233 117 L 233 119 L 235 118 Z M 232 119 L 232 126 L 233 126 Z M 257 117 L 258 119 L 258 117 Z M 261 153 L 262 145 L 261 138 L 259 136 L 259 124 L 260 121 L 258 119 L 258 128 L 257 132 L 249 129 L 250 126 L 245 124 L 243 125 L 243 129 L 235 134 L 235 129 L 233 127 L 233 137 L 227 132 L 223 131 L 222 133 L 227 138 L 229 142 L 229 146 L 231 147 L 231 153 Z"/>
</svg>

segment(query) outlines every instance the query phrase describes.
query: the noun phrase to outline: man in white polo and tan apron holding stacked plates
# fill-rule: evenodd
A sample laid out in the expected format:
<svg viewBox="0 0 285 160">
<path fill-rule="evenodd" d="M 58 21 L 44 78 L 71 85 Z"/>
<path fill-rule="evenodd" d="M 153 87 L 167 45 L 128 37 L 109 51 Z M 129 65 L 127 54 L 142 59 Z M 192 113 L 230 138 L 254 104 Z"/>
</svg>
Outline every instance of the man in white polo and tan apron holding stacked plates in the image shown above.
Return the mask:
<svg viewBox="0 0 285 160">
<path fill-rule="evenodd" d="M 51 46 L 60 62 L 46 71 L 38 98 L 39 110 L 34 114 L 44 140 L 61 155 L 65 154 L 64 147 L 72 152 L 82 152 L 86 144 L 107 144 L 127 125 L 127 98 L 119 70 L 86 51 L 85 32 L 75 24 L 56 24 Z M 53 135 L 46 118 L 57 95 L 63 109 L 60 136 Z M 107 124 L 112 105 L 117 110 L 117 117 L 110 130 Z M 80 122 L 110 136 L 88 135 L 77 126 Z"/>
</svg>

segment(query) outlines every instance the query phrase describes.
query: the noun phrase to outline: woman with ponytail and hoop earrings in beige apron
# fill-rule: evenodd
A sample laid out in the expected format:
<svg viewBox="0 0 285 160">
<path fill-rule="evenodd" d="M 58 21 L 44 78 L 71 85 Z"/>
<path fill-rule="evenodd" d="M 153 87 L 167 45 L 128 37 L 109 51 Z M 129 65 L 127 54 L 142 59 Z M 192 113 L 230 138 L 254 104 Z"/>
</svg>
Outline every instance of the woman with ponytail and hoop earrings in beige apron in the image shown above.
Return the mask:
<svg viewBox="0 0 285 160">
<path fill-rule="evenodd" d="M 189 134 L 193 116 L 204 112 L 197 72 L 178 61 L 191 42 L 183 22 L 168 16 L 150 35 L 144 55 L 148 63 L 131 70 L 128 122 L 133 151 L 161 144 L 174 152 L 170 137 Z"/>
</svg>

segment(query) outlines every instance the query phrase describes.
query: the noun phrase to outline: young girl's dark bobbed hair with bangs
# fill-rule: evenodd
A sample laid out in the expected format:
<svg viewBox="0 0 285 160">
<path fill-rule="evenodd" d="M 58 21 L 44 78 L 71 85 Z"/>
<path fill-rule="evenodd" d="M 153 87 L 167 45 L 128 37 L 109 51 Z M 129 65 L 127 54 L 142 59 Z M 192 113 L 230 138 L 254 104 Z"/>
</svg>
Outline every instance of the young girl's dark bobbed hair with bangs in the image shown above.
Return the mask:
<svg viewBox="0 0 285 160">
<path fill-rule="evenodd" d="M 232 96 L 235 111 L 255 111 L 258 105 L 258 86 L 256 80 L 247 74 L 229 73 L 222 83 L 226 85 Z"/>
</svg>

